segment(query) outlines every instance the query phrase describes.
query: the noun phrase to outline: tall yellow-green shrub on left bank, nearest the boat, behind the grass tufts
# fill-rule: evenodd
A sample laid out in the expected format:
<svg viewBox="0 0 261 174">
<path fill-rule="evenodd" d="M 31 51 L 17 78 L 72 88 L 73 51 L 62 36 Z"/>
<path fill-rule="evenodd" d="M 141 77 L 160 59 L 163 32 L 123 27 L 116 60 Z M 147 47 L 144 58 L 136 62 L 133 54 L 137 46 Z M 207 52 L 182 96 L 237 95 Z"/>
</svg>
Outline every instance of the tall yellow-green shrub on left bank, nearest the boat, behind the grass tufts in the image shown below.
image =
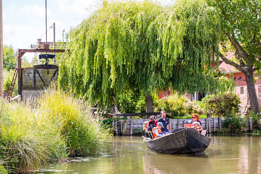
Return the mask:
<svg viewBox="0 0 261 174">
<path fill-rule="evenodd" d="M 36 105 L 44 117 L 58 125 L 71 155 L 96 154 L 111 137 L 111 129 L 94 118 L 89 103 L 55 90 L 54 86 L 41 93 Z"/>
</svg>

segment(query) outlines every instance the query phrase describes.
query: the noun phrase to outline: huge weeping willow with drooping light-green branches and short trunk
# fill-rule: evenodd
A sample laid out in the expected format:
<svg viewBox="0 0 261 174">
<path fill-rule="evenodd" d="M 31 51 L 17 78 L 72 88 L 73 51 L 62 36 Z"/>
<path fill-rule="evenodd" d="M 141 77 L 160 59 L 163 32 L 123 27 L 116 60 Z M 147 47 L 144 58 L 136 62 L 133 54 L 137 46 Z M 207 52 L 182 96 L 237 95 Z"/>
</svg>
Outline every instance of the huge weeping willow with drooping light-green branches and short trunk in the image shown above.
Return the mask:
<svg viewBox="0 0 261 174">
<path fill-rule="evenodd" d="M 146 98 L 146 112 L 153 111 L 152 92 L 170 86 L 191 94 L 223 90 L 229 83 L 220 85 L 211 67 L 218 57 L 216 16 L 203 0 L 173 7 L 104 1 L 67 33 L 71 53 L 60 63 L 59 87 L 105 107 L 132 89 Z"/>
</svg>

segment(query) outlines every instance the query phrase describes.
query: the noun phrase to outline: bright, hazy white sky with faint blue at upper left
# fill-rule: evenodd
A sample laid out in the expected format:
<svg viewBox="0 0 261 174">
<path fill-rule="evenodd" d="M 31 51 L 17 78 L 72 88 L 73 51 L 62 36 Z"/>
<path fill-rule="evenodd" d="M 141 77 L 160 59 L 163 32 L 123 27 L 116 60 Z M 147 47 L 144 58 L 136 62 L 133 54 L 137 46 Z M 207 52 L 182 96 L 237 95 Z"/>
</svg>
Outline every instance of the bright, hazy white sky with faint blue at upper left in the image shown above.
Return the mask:
<svg viewBox="0 0 261 174">
<path fill-rule="evenodd" d="M 171 1 L 161 0 L 160 2 Z M 69 31 L 88 18 L 101 0 L 47 0 L 47 30 L 55 22 L 55 40 L 63 40 Z M 46 41 L 45 0 L 2 0 L 3 44 L 16 49 L 30 49 L 37 39 Z M 47 42 L 53 42 L 53 28 L 47 31 Z M 30 61 L 34 54 L 26 53 Z"/>
</svg>

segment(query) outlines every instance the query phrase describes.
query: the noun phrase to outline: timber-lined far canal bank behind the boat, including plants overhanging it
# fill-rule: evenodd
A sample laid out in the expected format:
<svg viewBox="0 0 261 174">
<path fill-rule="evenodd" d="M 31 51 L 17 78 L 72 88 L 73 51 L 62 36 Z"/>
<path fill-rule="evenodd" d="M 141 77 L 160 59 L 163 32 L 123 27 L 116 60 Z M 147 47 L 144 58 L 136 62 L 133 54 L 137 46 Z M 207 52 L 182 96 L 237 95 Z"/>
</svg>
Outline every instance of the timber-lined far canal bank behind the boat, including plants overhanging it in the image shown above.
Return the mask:
<svg viewBox="0 0 261 174">
<path fill-rule="evenodd" d="M 159 116 L 160 117 L 160 116 Z M 112 120 L 112 127 L 114 135 L 133 135 L 142 134 L 142 125 L 144 121 L 148 119 L 122 119 L 122 120 Z M 176 128 L 183 127 L 183 122 L 189 120 L 189 118 L 184 119 L 171 119 L 169 118 L 169 129 L 174 130 Z M 208 133 L 216 134 L 229 134 L 229 133 L 243 133 L 252 132 L 255 130 L 261 130 L 259 124 L 260 117 L 253 120 L 252 118 L 200 118 L 203 130 L 208 130 Z M 230 125 L 230 126 L 229 126 Z M 233 130 L 230 130 L 233 127 Z M 232 128 L 231 128 L 232 129 Z M 234 131 L 234 132 L 233 132 Z"/>
</svg>

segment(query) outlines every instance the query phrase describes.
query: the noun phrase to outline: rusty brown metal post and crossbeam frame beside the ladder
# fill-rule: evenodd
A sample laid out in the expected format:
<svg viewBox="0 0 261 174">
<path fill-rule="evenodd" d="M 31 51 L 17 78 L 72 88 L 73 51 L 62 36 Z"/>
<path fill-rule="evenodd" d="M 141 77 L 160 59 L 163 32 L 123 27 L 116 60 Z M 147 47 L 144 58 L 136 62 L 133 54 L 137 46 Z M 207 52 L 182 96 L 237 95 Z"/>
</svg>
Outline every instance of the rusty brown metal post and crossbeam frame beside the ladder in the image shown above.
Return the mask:
<svg viewBox="0 0 261 174">
<path fill-rule="evenodd" d="M 18 61 L 18 94 L 22 95 L 22 59 L 21 57 L 25 53 L 64 53 L 65 50 L 50 50 L 50 49 L 18 49 L 18 56 L 17 56 L 17 61 Z"/>
</svg>

